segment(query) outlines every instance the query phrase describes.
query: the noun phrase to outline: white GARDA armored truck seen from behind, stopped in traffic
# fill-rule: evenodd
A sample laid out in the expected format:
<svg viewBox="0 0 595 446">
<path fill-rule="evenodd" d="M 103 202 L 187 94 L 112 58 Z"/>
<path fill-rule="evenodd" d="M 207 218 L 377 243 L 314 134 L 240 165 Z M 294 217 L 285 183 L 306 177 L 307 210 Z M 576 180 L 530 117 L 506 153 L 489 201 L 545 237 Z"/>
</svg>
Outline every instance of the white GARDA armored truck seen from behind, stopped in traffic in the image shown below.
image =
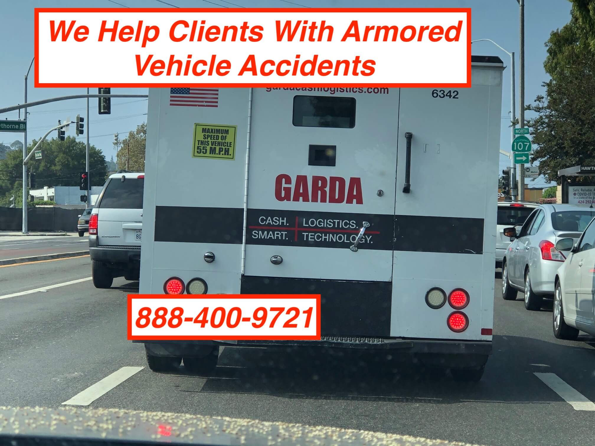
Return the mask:
<svg viewBox="0 0 595 446">
<path fill-rule="evenodd" d="M 316 344 L 480 379 L 502 71 L 472 56 L 468 89 L 149 89 L 140 293 L 321 295 L 320 341 L 147 340 L 151 369 Z"/>
</svg>

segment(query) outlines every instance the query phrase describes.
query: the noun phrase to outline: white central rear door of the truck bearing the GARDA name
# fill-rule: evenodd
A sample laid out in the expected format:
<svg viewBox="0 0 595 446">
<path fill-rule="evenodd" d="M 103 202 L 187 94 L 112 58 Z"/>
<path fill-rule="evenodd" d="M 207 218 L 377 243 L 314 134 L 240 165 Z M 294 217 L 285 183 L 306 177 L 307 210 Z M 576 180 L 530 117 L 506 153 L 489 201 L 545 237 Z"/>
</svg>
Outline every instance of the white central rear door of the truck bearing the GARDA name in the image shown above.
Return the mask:
<svg viewBox="0 0 595 446">
<path fill-rule="evenodd" d="M 253 90 L 245 276 L 391 281 L 398 113 L 398 89 Z"/>
</svg>

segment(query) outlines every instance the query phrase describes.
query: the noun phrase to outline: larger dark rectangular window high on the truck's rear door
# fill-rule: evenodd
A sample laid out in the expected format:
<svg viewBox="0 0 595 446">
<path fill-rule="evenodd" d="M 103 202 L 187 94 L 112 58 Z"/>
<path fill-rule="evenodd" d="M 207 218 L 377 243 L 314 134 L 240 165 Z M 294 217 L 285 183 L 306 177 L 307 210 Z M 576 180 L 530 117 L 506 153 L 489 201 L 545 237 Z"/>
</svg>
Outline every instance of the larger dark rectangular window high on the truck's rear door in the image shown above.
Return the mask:
<svg viewBox="0 0 595 446">
<path fill-rule="evenodd" d="M 294 96 L 293 125 L 296 127 L 355 127 L 355 98 Z"/>
</svg>

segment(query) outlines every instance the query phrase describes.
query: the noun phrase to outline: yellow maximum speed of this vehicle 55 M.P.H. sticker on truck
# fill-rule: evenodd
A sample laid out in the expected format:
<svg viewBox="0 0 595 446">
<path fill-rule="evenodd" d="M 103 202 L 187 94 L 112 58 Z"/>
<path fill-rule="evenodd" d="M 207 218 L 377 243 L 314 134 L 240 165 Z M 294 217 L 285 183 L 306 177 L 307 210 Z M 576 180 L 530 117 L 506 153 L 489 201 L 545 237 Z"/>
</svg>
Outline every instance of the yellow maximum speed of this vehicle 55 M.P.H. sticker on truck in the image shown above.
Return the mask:
<svg viewBox="0 0 595 446">
<path fill-rule="evenodd" d="M 194 124 L 192 158 L 234 159 L 237 125 Z"/>
</svg>

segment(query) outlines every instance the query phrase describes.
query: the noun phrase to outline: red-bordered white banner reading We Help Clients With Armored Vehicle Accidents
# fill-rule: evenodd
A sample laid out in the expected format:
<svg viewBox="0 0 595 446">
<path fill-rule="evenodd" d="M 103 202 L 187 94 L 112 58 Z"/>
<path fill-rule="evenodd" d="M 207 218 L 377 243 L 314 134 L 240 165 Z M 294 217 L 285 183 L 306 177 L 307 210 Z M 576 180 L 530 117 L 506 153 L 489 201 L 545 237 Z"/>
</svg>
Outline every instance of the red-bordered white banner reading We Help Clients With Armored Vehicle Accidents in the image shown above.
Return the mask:
<svg viewBox="0 0 595 446">
<path fill-rule="evenodd" d="M 470 87 L 471 9 L 36 8 L 35 59 L 36 87 Z"/>
</svg>

